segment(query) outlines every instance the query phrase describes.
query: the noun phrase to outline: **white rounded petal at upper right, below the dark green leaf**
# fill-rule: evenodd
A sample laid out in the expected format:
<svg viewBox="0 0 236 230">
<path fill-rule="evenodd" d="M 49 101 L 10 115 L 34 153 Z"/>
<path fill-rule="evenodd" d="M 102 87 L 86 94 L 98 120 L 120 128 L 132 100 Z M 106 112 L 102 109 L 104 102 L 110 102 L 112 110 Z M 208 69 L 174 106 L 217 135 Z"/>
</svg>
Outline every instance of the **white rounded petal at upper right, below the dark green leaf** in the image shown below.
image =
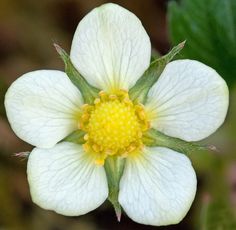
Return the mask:
<svg viewBox="0 0 236 230">
<path fill-rule="evenodd" d="M 169 63 L 148 94 L 152 127 L 186 141 L 216 131 L 228 109 L 228 87 L 212 68 L 193 60 Z"/>
</svg>

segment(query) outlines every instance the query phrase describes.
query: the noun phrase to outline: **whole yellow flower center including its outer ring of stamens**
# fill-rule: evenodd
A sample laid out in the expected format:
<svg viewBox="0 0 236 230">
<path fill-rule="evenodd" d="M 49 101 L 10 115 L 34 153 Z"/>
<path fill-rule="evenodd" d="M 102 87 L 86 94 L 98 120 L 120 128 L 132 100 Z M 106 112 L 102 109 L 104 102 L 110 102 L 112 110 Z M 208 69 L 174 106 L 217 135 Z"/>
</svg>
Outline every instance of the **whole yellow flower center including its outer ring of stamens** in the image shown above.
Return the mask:
<svg viewBox="0 0 236 230">
<path fill-rule="evenodd" d="M 86 132 L 86 152 L 96 154 L 97 164 L 109 155 L 126 157 L 142 148 L 142 132 L 149 128 L 141 104 L 134 104 L 126 91 L 99 93 L 93 105 L 84 105 L 80 128 Z"/>
</svg>

